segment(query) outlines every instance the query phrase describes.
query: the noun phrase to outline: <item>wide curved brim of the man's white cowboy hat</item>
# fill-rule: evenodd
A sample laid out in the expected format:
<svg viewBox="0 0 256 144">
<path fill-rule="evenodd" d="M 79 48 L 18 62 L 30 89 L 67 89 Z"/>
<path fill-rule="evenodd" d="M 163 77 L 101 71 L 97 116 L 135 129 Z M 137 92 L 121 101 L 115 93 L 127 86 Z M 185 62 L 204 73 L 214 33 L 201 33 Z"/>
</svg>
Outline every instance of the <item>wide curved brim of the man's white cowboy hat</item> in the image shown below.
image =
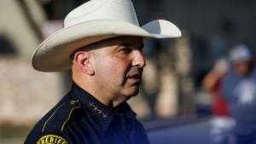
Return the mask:
<svg viewBox="0 0 256 144">
<path fill-rule="evenodd" d="M 166 20 L 154 20 L 143 27 L 119 20 L 92 20 L 63 28 L 46 38 L 32 57 L 32 66 L 42 72 L 71 68 L 74 51 L 103 39 L 119 36 L 180 37 L 181 32 Z"/>
</svg>

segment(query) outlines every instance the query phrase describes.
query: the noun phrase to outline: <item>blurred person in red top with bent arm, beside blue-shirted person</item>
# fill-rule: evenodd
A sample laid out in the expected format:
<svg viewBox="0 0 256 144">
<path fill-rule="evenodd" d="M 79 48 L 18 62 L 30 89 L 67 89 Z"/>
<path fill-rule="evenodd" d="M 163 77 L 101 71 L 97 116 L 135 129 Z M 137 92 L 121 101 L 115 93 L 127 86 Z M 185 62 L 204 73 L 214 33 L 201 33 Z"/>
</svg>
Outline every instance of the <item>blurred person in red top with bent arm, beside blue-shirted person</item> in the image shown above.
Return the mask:
<svg viewBox="0 0 256 144">
<path fill-rule="evenodd" d="M 216 61 L 212 70 L 203 79 L 203 87 L 212 94 L 212 143 L 227 144 L 232 141 L 231 131 L 234 121 L 230 118 L 227 101 L 222 98 L 221 81 L 229 71 L 228 60 L 222 58 Z"/>
</svg>

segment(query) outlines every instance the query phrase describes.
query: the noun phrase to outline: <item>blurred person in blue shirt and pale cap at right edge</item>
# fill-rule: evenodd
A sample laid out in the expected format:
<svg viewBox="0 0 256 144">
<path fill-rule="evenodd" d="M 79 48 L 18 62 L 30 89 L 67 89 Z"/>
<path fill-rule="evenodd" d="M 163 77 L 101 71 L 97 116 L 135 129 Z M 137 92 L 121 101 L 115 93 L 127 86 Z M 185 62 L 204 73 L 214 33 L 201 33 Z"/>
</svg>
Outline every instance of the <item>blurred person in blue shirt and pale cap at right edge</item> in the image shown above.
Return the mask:
<svg viewBox="0 0 256 144">
<path fill-rule="evenodd" d="M 223 97 L 229 102 L 232 118 L 236 121 L 237 144 L 256 142 L 256 69 L 253 57 L 245 44 L 230 51 L 230 72 L 222 82 Z"/>
</svg>

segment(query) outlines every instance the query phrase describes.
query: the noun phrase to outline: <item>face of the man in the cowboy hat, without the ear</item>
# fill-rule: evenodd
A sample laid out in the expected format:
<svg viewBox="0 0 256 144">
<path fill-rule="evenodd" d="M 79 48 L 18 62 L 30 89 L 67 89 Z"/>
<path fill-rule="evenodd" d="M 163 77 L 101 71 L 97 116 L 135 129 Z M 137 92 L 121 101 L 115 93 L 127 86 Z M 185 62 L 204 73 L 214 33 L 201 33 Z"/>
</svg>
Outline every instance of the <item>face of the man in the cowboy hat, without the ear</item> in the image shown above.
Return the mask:
<svg viewBox="0 0 256 144">
<path fill-rule="evenodd" d="M 143 67 L 142 37 L 114 37 L 100 43 L 93 55 L 96 84 L 102 94 L 129 99 L 139 92 Z"/>
</svg>

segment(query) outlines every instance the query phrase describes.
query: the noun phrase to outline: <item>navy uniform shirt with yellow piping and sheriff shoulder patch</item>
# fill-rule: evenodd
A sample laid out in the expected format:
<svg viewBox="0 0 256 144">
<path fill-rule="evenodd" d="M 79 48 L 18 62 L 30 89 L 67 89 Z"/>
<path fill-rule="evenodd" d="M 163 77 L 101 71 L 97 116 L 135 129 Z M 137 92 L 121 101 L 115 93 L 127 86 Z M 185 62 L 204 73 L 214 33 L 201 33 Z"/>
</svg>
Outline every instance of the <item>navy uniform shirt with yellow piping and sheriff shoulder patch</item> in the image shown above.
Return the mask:
<svg viewBox="0 0 256 144">
<path fill-rule="evenodd" d="M 148 144 L 148 135 L 126 102 L 109 109 L 73 88 L 27 136 L 25 144 Z"/>
</svg>

